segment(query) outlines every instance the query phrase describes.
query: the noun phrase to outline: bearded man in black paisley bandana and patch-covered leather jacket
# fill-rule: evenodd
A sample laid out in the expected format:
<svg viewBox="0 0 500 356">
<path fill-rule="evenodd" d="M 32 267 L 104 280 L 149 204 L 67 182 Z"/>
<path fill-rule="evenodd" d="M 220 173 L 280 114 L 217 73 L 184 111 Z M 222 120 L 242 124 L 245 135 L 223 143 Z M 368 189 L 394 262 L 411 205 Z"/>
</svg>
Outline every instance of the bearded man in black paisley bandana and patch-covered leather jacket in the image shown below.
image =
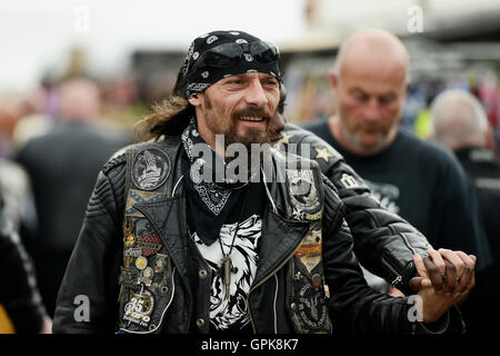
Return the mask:
<svg viewBox="0 0 500 356">
<path fill-rule="evenodd" d="M 273 44 L 242 31 L 194 39 L 179 73 L 186 90 L 139 122 L 142 142 L 98 178 L 54 332 L 404 334 L 461 325 L 458 298 L 430 285 L 408 298 L 373 291 L 334 186 L 316 162 L 268 145 L 278 60 Z M 254 145 L 258 169 L 229 154 Z M 414 264 L 428 278 L 419 255 Z"/>
</svg>

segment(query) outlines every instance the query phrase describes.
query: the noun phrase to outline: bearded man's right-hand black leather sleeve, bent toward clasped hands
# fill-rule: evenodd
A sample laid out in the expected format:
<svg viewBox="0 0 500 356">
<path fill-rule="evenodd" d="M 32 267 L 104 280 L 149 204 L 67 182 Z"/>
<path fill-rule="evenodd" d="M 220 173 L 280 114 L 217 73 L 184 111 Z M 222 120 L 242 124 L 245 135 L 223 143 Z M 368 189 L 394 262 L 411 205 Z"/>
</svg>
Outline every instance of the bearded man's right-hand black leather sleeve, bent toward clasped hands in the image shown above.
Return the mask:
<svg viewBox="0 0 500 356">
<path fill-rule="evenodd" d="M 458 309 L 450 309 L 437 323 L 417 317 L 416 296 L 394 298 L 371 289 L 353 253 L 346 220 L 338 221 L 343 206 L 328 179 L 324 181 L 323 249 L 326 283 L 330 290 L 330 316 L 339 334 L 441 334 L 460 333 L 463 323 Z"/>
</svg>

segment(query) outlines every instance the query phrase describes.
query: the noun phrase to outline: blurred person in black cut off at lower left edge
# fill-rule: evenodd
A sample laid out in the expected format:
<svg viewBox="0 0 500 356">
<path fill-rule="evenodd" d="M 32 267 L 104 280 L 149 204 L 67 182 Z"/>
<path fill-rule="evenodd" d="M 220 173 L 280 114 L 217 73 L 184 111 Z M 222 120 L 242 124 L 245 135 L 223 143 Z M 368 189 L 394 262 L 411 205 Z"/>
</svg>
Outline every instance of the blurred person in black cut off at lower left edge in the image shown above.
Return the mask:
<svg viewBox="0 0 500 356">
<path fill-rule="evenodd" d="M 50 333 L 52 320 L 37 289 L 30 257 L 4 207 L 0 188 L 0 334 Z"/>
</svg>

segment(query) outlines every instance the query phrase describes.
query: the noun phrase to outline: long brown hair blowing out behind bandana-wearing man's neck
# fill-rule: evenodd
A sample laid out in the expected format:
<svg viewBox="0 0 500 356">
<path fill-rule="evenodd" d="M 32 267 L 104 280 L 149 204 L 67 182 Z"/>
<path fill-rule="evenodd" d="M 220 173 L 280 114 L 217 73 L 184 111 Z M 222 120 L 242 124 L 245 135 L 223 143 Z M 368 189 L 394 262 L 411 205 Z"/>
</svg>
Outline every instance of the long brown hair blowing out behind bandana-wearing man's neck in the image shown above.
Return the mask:
<svg viewBox="0 0 500 356">
<path fill-rule="evenodd" d="M 162 135 L 180 136 L 194 116 L 186 96 L 186 80 L 179 73 L 170 98 L 151 107 L 151 112 L 133 127 L 136 142 L 158 141 Z"/>
</svg>

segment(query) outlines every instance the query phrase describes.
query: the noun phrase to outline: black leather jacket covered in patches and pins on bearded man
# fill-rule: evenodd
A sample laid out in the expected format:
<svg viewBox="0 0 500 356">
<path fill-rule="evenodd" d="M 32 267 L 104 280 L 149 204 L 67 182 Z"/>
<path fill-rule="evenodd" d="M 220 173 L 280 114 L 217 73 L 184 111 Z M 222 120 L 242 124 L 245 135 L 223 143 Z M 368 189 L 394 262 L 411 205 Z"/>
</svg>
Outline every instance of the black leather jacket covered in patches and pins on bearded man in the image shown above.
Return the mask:
<svg viewBox="0 0 500 356">
<path fill-rule="evenodd" d="M 162 160 L 168 174 L 144 192 L 137 189 L 134 169 L 146 151 Z M 181 154 L 178 138 L 133 145 L 101 170 L 61 284 L 54 333 L 209 332 L 211 271 L 188 235 Z M 253 332 L 421 330 L 408 318 L 409 298 L 381 295 L 366 284 L 346 207 L 318 165 L 273 150 L 272 167 L 247 298 Z M 306 198 L 294 195 L 293 177 L 311 184 Z M 149 280 L 139 266 L 144 256 L 143 266 L 154 266 Z"/>
</svg>

